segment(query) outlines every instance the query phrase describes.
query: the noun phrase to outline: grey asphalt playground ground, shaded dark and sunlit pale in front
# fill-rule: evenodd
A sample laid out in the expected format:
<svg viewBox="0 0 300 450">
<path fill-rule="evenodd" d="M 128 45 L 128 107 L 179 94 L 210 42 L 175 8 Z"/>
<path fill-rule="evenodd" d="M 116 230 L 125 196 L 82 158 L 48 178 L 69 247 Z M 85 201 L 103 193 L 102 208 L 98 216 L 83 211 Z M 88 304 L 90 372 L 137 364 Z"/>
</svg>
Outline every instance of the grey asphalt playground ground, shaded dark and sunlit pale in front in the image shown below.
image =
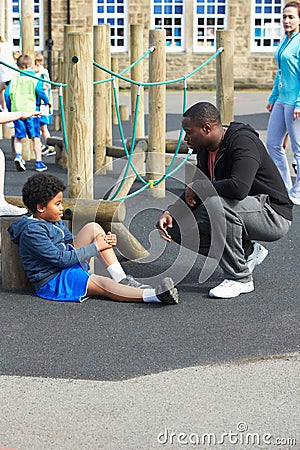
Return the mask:
<svg viewBox="0 0 300 450">
<path fill-rule="evenodd" d="M 235 98 L 235 119 L 252 124 L 262 138 L 266 98 L 253 92 Z M 190 94 L 190 103 L 200 99 L 214 102 L 214 93 Z M 179 93 L 168 96 L 169 137 L 178 134 L 178 105 Z M 5 193 L 20 195 L 34 164 L 17 173 L 10 143 L 0 144 L 6 154 Z M 66 180 L 53 157 L 45 162 Z M 95 197 L 108 192 L 121 164 L 95 177 Z M 167 181 L 164 200 L 145 192 L 126 202 L 126 224 L 152 258 L 133 262 L 119 255 L 136 278 L 147 281 L 171 271 L 179 280 L 179 305 L 55 303 L 32 291 L 0 288 L 0 446 L 194 448 L 192 433 L 198 438 L 211 433 L 211 442 L 199 442 L 198 448 L 300 448 L 300 208 L 294 208 L 290 233 L 264 244 L 269 256 L 255 270 L 255 291 L 213 300 L 207 292 L 222 280 L 221 271 L 199 285 L 204 258 L 193 261 L 175 245 L 162 247 L 155 231 L 160 211 L 180 194 L 183 179 L 181 170 Z M 104 273 L 98 265 L 96 270 Z M 221 439 L 230 431 L 238 432 L 236 442 Z M 246 442 L 247 432 L 259 435 L 253 445 Z M 269 442 L 263 438 L 267 433 Z"/>
</svg>

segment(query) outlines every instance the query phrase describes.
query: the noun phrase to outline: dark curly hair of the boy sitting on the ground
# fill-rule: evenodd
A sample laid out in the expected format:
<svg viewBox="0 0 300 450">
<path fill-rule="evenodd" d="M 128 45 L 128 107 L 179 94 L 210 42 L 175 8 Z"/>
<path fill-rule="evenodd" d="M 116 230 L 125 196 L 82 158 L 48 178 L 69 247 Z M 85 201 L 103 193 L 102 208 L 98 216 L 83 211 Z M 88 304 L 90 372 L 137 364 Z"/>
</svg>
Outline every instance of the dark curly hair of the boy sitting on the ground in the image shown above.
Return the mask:
<svg viewBox="0 0 300 450">
<path fill-rule="evenodd" d="M 63 192 L 66 186 L 62 180 L 50 173 L 37 173 L 28 178 L 22 189 L 23 202 L 33 213 L 37 211 L 37 205 L 47 206 L 59 192 Z"/>
</svg>

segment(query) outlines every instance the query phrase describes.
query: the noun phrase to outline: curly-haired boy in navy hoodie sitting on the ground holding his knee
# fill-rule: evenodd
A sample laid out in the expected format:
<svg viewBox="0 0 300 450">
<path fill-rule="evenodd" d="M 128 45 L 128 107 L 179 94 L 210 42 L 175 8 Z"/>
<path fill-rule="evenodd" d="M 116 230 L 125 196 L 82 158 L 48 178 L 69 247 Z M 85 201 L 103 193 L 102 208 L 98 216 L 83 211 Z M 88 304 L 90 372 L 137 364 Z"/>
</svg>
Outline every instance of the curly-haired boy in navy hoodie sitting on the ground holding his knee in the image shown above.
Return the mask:
<svg viewBox="0 0 300 450">
<path fill-rule="evenodd" d="M 39 173 L 30 177 L 22 194 L 31 213 L 8 229 L 39 297 L 81 302 L 101 296 L 123 302 L 178 303 L 171 278 L 164 278 L 152 288 L 126 275 L 113 250 L 115 234 L 105 233 L 99 224 L 90 222 L 74 237 L 62 220 L 64 190 L 64 183 L 54 175 Z M 111 278 L 88 273 L 88 262 L 95 256 Z"/>
</svg>

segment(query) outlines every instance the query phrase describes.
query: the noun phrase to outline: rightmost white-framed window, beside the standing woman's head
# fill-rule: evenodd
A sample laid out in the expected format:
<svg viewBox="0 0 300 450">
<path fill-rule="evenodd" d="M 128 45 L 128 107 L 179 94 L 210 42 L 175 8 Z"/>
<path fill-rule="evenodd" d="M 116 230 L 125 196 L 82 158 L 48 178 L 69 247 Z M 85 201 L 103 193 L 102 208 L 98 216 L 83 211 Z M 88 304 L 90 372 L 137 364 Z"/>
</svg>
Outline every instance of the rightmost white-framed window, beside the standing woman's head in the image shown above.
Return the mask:
<svg viewBox="0 0 300 450">
<path fill-rule="evenodd" d="M 283 0 L 252 0 L 251 50 L 273 52 L 283 36 Z"/>
</svg>

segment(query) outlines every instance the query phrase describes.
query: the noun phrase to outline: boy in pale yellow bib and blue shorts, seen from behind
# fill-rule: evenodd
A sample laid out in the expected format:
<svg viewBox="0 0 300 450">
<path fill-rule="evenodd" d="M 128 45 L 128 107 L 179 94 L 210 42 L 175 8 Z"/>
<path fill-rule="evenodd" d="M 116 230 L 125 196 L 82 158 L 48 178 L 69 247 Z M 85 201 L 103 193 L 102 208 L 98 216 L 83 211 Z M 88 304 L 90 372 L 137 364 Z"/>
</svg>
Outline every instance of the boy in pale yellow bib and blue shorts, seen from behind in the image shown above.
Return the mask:
<svg viewBox="0 0 300 450">
<path fill-rule="evenodd" d="M 21 55 L 17 59 L 17 65 L 23 73 L 16 73 L 5 90 L 5 101 L 9 111 L 33 111 L 40 109 L 41 101 L 49 105 L 49 98 L 44 90 L 43 81 L 37 81 L 26 74 L 35 75 L 33 61 L 29 55 Z M 26 170 L 25 161 L 22 158 L 22 139 L 28 136 L 33 141 L 33 150 L 36 159 L 36 171 L 43 172 L 47 166 L 42 162 L 40 119 L 30 117 L 28 119 L 15 120 L 15 159 L 16 169 L 20 172 Z"/>
</svg>

